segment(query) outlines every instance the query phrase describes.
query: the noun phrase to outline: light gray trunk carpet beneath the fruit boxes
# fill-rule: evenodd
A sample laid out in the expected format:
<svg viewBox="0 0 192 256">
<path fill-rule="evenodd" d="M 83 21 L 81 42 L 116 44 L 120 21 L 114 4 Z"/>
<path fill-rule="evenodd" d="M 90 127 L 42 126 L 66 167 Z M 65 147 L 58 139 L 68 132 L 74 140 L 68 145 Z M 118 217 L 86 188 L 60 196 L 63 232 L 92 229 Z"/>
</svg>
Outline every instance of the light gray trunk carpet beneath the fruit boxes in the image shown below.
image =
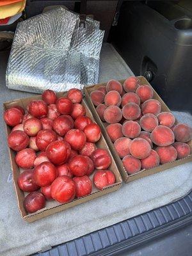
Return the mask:
<svg viewBox="0 0 192 256">
<path fill-rule="evenodd" d="M 4 101 L 28 97 L 31 93 L 8 90 L 4 73 L 8 54 L 0 55 L 1 106 Z M 123 79 L 132 75 L 124 60 L 109 44 L 101 52 L 100 82 Z M 2 108 L 1 108 L 2 112 Z M 2 115 L 3 113 L 1 113 Z M 181 122 L 192 124 L 186 113 L 174 113 Z M 2 120 L 2 119 L 1 119 Z M 0 198 L 0 255 L 19 256 L 40 252 L 46 246 L 54 246 L 84 236 L 100 228 L 108 227 L 168 204 L 186 195 L 192 184 L 192 164 L 183 164 L 129 184 L 92 202 L 77 205 L 34 223 L 20 218 L 13 182 L 8 179 L 11 168 L 3 120 L 1 140 L 1 198 Z"/>
</svg>

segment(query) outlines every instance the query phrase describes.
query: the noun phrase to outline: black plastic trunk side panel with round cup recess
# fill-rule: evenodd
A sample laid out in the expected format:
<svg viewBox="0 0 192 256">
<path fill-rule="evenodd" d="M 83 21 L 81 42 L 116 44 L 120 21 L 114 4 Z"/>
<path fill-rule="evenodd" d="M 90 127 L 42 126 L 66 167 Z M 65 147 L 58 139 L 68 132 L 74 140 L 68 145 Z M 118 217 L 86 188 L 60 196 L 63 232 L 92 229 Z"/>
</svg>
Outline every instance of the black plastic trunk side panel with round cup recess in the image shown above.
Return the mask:
<svg viewBox="0 0 192 256">
<path fill-rule="evenodd" d="M 189 11 L 170 1 L 147 3 L 122 5 L 113 42 L 136 76 L 149 71 L 145 76 L 170 109 L 192 113 Z"/>
</svg>

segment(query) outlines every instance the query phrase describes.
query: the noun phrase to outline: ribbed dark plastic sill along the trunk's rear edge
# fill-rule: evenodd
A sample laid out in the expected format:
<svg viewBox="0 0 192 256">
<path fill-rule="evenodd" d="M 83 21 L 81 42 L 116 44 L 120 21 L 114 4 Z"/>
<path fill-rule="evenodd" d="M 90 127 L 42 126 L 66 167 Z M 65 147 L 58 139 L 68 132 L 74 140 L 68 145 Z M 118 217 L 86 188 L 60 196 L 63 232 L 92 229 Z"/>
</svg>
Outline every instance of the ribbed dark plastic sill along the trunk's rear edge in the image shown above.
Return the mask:
<svg viewBox="0 0 192 256">
<path fill-rule="evenodd" d="M 153 211 L 55 246 L 34 256 L 118 255 L 162 234 L 192 223 L 192 191 Z"/>
</svg>

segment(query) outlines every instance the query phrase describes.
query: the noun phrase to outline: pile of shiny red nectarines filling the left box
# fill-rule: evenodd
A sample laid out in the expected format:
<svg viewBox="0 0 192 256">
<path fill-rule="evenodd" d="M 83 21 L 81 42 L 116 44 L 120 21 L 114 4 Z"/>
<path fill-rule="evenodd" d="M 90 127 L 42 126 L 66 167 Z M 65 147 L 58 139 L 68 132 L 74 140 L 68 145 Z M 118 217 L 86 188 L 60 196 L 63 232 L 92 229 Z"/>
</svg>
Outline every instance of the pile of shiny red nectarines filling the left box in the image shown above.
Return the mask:
<svg viewBox="0 0 192 256">
<path fill-rule="evenodd" d="M 46 200 L 66 203 L 115 183 L 108 170 L 111 156 L 97 148 L 99 125 L 85 116 L 80 90 L 71 89 L 57 99 L 45 90 L 42 100 L 31 100 L 27 112 L 20 106 L 4 111 L 4 121 L 13 127 L 8 145 L 17 151 L 15 162 L 24 169 L 17 180 L 29 194 L 24 199 L 28 212 L 45 207 Z M 40 191 L 39 191 L 40 189 Z"/>
</svg>

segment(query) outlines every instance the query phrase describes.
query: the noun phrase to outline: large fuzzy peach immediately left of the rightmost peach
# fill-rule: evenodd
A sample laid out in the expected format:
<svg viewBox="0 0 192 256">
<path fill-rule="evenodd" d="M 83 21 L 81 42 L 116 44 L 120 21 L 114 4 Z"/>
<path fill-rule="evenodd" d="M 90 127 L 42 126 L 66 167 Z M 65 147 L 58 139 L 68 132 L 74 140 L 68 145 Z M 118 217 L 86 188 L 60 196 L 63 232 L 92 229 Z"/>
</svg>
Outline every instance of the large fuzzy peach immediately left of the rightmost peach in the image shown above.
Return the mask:
<svg viewBox="0 0 192 256">
<path fill-rule="evenodd" d="M 169 127 L 159 125 L 152 131 L 150 139 L 157 146 L 168 146 L 175 141 L 175 136 Z"/>
</svg>

